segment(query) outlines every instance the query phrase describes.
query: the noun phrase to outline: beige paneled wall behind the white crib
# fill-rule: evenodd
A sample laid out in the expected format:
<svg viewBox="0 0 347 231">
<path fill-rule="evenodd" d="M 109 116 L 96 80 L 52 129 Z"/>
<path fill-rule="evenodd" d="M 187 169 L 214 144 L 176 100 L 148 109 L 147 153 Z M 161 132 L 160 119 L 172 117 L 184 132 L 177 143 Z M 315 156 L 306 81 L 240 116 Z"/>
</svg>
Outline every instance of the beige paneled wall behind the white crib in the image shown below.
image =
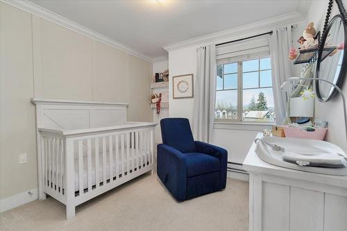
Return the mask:
<svg viewBox="0 0 347 231">
<path fill-rule="evenodd" d="M 31 98 L 129 103 L 128 121 L 152 121 L 150 62 L 2 2 L 0 30 L 1 199 L 37 188 Z"/>
</svg>

